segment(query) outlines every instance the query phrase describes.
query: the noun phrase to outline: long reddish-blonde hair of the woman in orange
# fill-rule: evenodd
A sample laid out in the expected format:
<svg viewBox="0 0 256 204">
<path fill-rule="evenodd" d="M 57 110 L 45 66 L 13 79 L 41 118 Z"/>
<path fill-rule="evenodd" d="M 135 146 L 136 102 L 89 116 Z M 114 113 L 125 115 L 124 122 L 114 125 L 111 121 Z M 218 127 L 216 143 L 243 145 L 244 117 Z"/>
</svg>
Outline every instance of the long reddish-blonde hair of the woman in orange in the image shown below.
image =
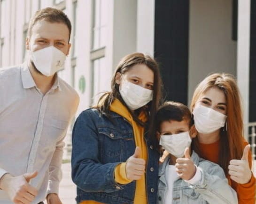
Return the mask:
<svg viewBox="0 0 256 204">
<path fill-rule="evenodd" d="M 232 74 L 213 73 L 202 80 L 196 87 L 190 106 L 191 111 L 193 111 L 195 103 L 198 102 L 201 95 L 211 87 L 217 87 L 222 90 L 227 103 L 227 131 L 225 127 L 220 131 L 221 145 L 218 158 L 218 164 L 227 174 L 229 161 L 233 159 L 240 160 L 243 154 L 244 139 L 240 92 Z M 201 156 L 197 138 L 193 140 L 192 148 Z"/>
</svg>

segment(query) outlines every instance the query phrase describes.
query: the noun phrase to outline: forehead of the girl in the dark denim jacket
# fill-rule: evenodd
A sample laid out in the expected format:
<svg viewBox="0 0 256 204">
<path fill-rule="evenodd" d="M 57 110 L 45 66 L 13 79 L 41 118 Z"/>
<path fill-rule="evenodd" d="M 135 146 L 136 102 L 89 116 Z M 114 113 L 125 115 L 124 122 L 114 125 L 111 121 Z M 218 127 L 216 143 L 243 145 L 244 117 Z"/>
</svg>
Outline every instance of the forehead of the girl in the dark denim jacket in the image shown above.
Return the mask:
<svg viewBox="0 0 256 204">
<path fill-rule="evenodd" d="M 124 74 L 136 76 L 148 82 L 154 82 L 154 72 L 144 64 L 137 64 L 129 68 Z"/>
</svg>

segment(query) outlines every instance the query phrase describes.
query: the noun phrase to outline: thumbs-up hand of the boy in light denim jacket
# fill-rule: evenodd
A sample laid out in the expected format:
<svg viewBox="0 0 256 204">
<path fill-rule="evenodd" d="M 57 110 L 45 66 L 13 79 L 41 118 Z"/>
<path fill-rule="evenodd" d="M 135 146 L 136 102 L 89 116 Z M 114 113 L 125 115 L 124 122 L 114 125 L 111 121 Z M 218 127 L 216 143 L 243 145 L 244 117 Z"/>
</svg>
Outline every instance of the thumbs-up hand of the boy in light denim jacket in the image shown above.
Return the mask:
<svg viewBox="0 0 256 204">
<path fill-rule="evenodd" d="M 184 180 L 190 180 L 195 175 L 196 167 L 194 165 L 194 162 L 191 160 L 188 147 L 186 147 L 184 155 L 185 158 L 178 158 L 176 160 L 176 172 L 178 173 L 178 176 L 180 178 Z"/>
</svg>

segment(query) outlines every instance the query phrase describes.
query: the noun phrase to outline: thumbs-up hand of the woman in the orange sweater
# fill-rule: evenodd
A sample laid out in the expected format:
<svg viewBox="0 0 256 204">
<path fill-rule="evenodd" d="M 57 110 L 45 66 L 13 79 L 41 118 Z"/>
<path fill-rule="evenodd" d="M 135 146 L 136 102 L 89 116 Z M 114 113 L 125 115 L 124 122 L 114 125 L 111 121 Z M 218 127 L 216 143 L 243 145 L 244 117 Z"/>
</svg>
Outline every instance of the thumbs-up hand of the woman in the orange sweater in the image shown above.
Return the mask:
<svg viewBox="0 0 256 204">
<path fill-rule="evenodd" d="M 244 147 L 241 160 L 231 160 L 228 166 L 230 178 L 240 184 L 248 183 L 252 177 L 252 171 L 249 167 L 248 154 L 250 145 Z"/>
</svg>

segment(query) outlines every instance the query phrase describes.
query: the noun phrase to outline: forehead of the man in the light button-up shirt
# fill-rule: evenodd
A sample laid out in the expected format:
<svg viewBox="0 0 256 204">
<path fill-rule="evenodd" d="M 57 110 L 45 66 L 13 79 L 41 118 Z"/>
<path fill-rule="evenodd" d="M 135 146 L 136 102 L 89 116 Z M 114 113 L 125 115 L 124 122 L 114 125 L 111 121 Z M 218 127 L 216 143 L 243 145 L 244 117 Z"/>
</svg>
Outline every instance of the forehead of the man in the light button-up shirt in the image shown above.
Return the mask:
<svg viewBox="0 0 256 204">
<path fill-rule="evenodd" d="M 64 39 L 69 40 L 68 26 L 62 22 L 47 22 L 39 20 L 31 29 L 31 38 Z"/>
</svg>

